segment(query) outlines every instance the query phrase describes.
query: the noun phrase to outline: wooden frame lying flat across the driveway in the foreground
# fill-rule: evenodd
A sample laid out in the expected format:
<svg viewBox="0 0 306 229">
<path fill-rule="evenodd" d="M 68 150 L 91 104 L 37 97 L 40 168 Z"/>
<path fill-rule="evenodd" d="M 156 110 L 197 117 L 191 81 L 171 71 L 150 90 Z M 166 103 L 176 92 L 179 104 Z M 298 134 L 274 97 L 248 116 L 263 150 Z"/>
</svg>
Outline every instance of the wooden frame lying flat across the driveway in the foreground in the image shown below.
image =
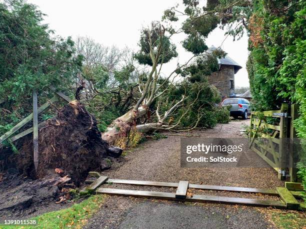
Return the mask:
<svg viewBox="0 0 306 229">
<path fill-rule="evenodd" d="M 97 172 L 89 172 L 89 175 L 94 176 L 97 179 L 86 180 L 85 183 L 90 185 L 84 188 L 83 190 L 81 190 L 80 194 L 82 193 L 85 194 L 87 192 L 95 192 L 96 194 L 129 196 L 129 197 L 139 197 L 139 198 L 154 198 L 154 199 L 172 200 L 172 201 L 205 202 L 205 203 L 210 202 L 218 204 L 220 203 L 241 204 L 241 205 L 251 205 L 258 207 L 270 206 L 278 209 L 290 209 L 290 210 L 304 209 L 304 207 L 300 206 L 299 202 L 297 202 L 295 199 L 295 198 L 301 198 L 301 192 L 290 191 L 288 188 L 285 187 L 277 187 L 276 190 L 269 190 L 269 189 L 242 188 L 242 187 L 196 185 L 196 184 L 189 184 L 188 181 L 179 181 L 179 183 L 168 183 L 168 182 L 153 182 L 153 181 L 117 180 L 117 179 L 108 179 L 108 177 L 105 176 L 100 176 L 100 174 Z M 102 186 L 103 184 L 127 184 L 127 185 L 138 185 L 138 186 L 171 187 L 171 188 L 176 188 L 176 193 L 109 189 L 109 188 L 104 188 Z M 206 195 L 187 196 L 187 190 L 189 188 L 200 189 L 200 190 L 260 193 L 263 195 L 279 196 L 281 198 L 281 201 L 256 200 L 256 199 L 206 196 Z"/>
</svg>

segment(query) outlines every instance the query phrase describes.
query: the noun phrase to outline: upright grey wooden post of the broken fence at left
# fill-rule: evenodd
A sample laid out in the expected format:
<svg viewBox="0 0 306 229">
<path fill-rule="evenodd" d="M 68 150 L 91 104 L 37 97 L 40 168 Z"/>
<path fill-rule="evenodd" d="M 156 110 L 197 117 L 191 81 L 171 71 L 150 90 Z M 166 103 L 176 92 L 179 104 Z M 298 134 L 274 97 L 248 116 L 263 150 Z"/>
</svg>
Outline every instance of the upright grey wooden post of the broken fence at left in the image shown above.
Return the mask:
<svg viewBox="0 0 306 229">
<path fill-rule="evenodd" d="M 38 167 L 38 108 L 37 108 L 37 92 L 33 90 L 33 160 L 35 171 Z"/>
</svg>

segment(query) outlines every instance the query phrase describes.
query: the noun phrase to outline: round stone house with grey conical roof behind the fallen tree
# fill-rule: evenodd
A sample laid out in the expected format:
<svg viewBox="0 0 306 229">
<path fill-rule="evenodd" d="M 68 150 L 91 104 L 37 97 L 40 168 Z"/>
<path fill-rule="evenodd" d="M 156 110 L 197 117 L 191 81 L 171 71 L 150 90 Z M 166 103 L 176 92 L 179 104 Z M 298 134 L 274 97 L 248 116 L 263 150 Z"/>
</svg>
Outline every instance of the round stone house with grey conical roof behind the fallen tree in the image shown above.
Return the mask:
<svg viewBox="0 0 306 229">
<path fill-rule="evenodd" d="M 209 48 L 215 49 L 214 46 Z M 218 58 L 219 70 L 207 76 L 208 82 L 219 89 L 222 100 L 235 95 L 235 74 L 242 68 L 237 62 L 228 55 Z"/>
</svg>

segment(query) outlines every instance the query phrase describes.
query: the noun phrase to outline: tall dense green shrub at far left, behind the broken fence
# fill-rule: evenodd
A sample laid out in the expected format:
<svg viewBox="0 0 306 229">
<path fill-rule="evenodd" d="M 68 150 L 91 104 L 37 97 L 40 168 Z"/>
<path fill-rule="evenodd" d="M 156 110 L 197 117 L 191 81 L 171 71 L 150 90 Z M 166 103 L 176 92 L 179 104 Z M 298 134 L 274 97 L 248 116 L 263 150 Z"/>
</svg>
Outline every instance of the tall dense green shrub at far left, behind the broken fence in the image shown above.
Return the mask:
<svg viewBox="0 0 306 229">
<path fill-rule="evenodd" d="M 50 85 L 68 89 L 80 70 L 82 57 L 74 55 L 71 38 L 54 36 L 43 16 L 24 0 L 0 2 L 0 126 L 31 113 L 33 89 L 45 102 Z"/>
</svg>

